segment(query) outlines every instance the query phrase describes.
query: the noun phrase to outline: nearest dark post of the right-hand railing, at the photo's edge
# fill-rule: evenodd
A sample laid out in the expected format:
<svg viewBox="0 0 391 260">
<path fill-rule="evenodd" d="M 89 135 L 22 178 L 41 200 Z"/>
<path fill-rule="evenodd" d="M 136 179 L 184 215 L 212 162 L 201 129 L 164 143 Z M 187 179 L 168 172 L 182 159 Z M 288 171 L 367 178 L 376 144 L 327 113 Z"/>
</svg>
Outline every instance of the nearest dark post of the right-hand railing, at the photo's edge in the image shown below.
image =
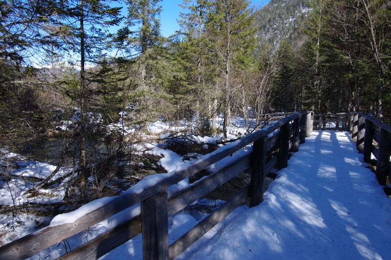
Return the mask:
<svg viewBox="0 0 391 260">
<path fill-rule="evenodd" d="M 387 175 L 390 168 L 391 133 L 387 130 L 380 130 L 379 155 L 376 164 L 376 176 L 380 185 L 386 185 Z"/>
</svg>

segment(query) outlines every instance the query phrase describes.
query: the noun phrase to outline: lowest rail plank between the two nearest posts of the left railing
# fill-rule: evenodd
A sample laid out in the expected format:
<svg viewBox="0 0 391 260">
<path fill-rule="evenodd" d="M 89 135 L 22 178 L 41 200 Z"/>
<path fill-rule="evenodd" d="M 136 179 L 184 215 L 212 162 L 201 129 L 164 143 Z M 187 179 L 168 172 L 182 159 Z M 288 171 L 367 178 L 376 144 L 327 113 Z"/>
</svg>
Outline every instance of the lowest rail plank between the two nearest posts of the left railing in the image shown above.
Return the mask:
<svg viewBox="0 0 391 260">
<path fill-rule="evenodd" d="M 186 248 L 192 245 L 196 240 L 205 235 L 224 217 L 227 217 L 234 209 L 244 204 L 249 195 L 249 185 L 243 188 L 239 193 L 220 206 L 214 213 L 205 217 L 199 223 L 178 238 L 170 245 L 170 260 L 176 258 Z"/>
</svg>

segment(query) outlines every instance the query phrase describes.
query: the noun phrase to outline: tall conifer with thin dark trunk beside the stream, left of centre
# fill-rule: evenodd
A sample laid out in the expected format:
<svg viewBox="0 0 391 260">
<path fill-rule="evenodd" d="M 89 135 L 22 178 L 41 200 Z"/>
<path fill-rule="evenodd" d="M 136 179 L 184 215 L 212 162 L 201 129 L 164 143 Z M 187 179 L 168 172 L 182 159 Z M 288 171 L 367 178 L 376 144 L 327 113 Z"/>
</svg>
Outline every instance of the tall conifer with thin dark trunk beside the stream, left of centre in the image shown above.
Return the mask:
<svg viewBox="0 0 391 260">
<path fill-rule="evenodd" d="M 83 190 L 87 183 L 88 165 L 95 160 L 91 154 L 93 150 L 89 154 L 87 152 L 87 143 L 94 143 L 94 131 L 88 129 L 91 119 L 88 113 L 94 111 L 94 102 L 103 93 L 100 83 L 104 78 L 102 73 L 106 71 L 105 41 L 109 26 L 118 25 L 121 21 L 121 7 L 111 7 L 106 0 L 69 0 L 62 2 L 61 6 L 58 23 L 66 28 L 64 47 L 72 51 L 71 58 L 76 59 L 76 65 L 80 65 L 78 82 L 65 82 L 65 89 L 68 89 L 64 93 L 79 109 L 79 183 Z M 87 70 L 87 65 L 99 65 L 100 68 Z"/>
</svg>

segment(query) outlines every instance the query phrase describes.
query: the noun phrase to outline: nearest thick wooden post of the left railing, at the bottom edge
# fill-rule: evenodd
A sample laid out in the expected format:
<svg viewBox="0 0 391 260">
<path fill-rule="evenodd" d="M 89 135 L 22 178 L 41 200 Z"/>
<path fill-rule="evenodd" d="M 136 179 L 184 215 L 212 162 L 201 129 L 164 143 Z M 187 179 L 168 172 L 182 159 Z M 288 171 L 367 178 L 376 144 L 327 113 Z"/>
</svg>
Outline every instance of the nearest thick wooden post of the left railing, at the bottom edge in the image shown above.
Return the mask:
<svg viewBox="0 0 391 260">
<path fill-rule="evenodd" d="M 141 202 L 141 230 L 144 260 L 168 260 L 167 190 Z"/>
</svg>

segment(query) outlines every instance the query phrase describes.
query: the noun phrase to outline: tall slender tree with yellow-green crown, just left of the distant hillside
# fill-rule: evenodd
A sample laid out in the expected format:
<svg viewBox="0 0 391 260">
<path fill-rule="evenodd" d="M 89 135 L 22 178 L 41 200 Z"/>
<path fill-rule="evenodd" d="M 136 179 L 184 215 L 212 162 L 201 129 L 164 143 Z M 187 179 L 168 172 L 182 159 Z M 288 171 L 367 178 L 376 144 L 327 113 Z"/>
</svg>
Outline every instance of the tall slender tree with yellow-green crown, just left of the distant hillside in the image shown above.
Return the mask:
<svg viewBox="0 0 391 260">
<path fill-rule="evenodd" d="M 231 102 L 237 72 L 250 65 L 251 51 L 255 48 L 253 10 L 249 1 L 217 0 L 206 23 L 206 37 L 214 63 L 222 75 L 224 123 L 223 134 L 227 137 L 230 125 Z"/>
</svg>

